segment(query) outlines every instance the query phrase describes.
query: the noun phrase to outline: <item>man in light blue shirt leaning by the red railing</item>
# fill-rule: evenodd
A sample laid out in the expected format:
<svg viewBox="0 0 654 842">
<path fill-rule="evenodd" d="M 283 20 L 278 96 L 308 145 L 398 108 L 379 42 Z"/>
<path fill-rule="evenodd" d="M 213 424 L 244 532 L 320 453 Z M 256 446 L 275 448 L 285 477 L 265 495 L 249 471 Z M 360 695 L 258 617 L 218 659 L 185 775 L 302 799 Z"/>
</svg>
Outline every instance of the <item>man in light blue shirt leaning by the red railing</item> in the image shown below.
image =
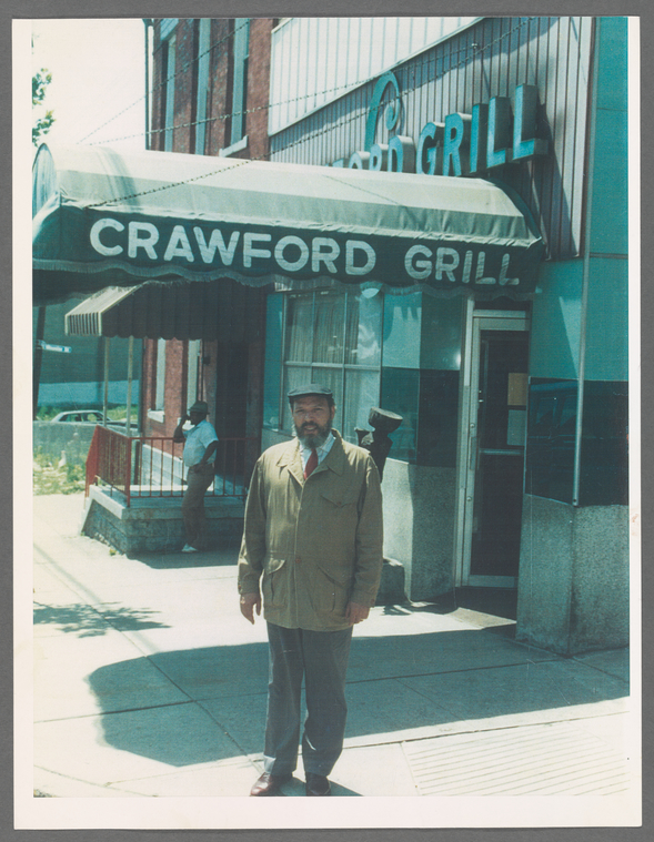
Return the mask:
<svg viewBox="0 0 654 842">
<path fill-rule="evenodd" d="M 187 467 L 187 488 L 182 500 L 182 518 L 187 542 L 182 552 L 197 552 L 204 549 L 204 495 L 213 481 L 215 470 L 211 457 L 218 446 L 215 429 L 207 420 L 209 406 L 204 400 L 197 400 L 184 414 L 172 434 L 174 442 L 184 442 L 184 466 Z M 191 422 L 191 429 L 183 426 Z M 210 461 L 211 460 L 211 461 Z"/>
</svg>

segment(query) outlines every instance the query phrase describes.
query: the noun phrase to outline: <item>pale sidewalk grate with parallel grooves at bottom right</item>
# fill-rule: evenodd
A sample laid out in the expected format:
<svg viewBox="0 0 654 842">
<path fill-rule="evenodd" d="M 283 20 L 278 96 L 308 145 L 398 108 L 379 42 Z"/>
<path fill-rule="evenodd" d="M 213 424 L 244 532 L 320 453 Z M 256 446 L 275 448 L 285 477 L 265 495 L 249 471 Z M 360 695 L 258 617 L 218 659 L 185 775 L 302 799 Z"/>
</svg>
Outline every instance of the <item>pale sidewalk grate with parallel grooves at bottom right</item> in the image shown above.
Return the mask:
<svg viewBox="0 0 654 842">
<path fill-rule="evenodd" d="M 627 759 L 571 722 L 404 743 L 421 795 L 612 795 L 630 789 Z"/>
</svg>

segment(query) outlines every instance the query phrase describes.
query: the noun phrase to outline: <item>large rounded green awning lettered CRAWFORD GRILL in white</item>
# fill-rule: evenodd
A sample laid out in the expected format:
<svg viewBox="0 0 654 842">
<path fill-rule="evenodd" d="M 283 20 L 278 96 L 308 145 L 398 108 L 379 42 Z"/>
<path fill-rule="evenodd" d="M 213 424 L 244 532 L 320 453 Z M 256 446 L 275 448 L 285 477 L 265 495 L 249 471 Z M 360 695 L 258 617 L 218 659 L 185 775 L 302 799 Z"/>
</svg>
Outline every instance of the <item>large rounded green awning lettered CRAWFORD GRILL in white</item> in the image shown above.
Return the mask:
<svg viewBox="0 0 654 842">
<path fill-rule="evenodd" d="M 149 280 L 530 292 L 543 241 L 483 179 L 42 145 L 34 303 Z"/>
</svg>

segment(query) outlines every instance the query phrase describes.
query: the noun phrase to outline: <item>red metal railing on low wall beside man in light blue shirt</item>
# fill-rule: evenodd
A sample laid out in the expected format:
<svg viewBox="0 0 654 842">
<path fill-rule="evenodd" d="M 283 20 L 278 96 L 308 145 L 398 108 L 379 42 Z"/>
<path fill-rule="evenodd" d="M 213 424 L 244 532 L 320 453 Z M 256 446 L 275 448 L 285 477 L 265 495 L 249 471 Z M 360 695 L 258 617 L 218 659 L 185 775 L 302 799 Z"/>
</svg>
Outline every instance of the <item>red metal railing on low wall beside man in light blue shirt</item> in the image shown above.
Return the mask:
<svg viewBox="0 0 654 842">
<path fill-rule="evenodd" d="M 245 496 L 245 476 L 254 460 L 254 438 L 219 440 L 209 496 Z M 87 496 L 92 485 L 99 485 L 123 495 L 127 506 L 132 498 L 181 497 L 185 476 L 182 453 L 183 443 L 169 437 L 125 436 L 97 426 L 87 457 Z"/>
</svg>

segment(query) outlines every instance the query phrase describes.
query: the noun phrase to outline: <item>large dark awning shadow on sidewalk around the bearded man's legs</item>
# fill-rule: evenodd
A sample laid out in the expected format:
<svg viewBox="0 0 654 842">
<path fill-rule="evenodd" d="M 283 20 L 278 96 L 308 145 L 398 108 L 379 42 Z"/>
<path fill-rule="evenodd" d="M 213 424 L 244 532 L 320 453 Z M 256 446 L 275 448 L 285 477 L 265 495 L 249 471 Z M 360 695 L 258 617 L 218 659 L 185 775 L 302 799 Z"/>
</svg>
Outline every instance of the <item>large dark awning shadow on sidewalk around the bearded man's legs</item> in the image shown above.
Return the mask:
<svg viewBox="0 0 654 842">
<path fill-rule="evenodd" d="M 152 667 L 188 702 L 143 708 Z M 268 646 L 208 647 L 109 665 L 89 677 L 108 744 L 184 767 L 261 751 Z M 134 688 L 130 703 L 130 688 Z M 141 703 L 135 701 L 135 693 Z M 354 638 L 348 738 L 588 704 L 624 681 L 484 630 Z M 195 703 L 192 703 L 195 702 Z"/>
</svg>

